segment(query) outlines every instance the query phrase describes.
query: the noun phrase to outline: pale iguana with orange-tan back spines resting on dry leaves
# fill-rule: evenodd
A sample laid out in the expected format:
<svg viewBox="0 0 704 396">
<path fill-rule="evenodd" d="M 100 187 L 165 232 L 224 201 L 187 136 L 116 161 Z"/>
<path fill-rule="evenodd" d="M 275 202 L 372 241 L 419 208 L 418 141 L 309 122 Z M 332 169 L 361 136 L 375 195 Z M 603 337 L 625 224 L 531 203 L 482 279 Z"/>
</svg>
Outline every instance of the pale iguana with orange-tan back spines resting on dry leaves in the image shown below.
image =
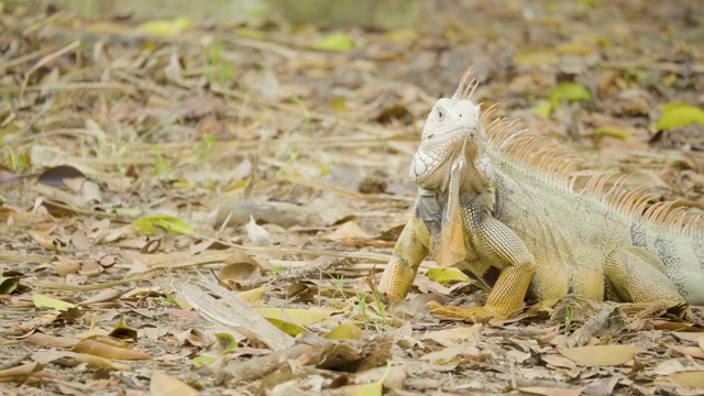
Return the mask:
<svg viewBox="0 0 704 396">
<path fill-rule="evenodd" d="M 635 302 L 704 305 L 704 217 L 651 204 L 602 172 L 575 188 L 579 158 L 515 123 L 494 120 L 471 97 L 471 69 L 450 99 L 433 106 L 410 177 L 415 213 L 378 290 L 405 298 L 420 262 L 435 256 L 491 287 L 483 307 L 430 302 L 432 314 L 472 321 L 506 319 L 524 299 L 575 294 Z M 637 307 L 635 307 L 637 308 Z M 689 308 L 686 308 L 689 311 Z"/>
</svg>

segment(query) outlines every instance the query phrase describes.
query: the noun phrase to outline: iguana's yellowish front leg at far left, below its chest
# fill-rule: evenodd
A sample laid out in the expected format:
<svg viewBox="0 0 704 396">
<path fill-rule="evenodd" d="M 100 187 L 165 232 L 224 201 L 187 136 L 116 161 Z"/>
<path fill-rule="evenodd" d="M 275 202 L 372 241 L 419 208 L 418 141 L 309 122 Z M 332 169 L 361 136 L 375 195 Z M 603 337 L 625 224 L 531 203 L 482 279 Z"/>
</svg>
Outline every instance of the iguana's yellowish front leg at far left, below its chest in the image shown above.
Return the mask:
<svg viewBox="0 0 704 396">
<path fill-rule="evenodd" d="M 378 290 L 386 296 L 404 299 L 416 278 L 420 262 L 428 255 L 429 245 L 430 231 L 416 215 L 406 223 L 394 246 Z"/>
</svg>

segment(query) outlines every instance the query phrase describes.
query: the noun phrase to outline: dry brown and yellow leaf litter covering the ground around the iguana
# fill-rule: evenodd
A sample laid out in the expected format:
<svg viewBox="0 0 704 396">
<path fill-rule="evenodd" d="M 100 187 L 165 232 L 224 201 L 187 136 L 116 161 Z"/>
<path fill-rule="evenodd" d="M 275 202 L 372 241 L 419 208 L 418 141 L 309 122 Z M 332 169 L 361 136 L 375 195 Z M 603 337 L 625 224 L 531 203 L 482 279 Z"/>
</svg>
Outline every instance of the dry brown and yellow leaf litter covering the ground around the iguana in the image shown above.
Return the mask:
<svg viewBox="0 0 704 396">
<path fill-rule="evenodd" d="M 502 116 L 704 209 L 702 6 L 425 7 L 388 32 L 2 11 L 0 393 L 702 392 L 697 307 L 473 326 L 425 309 L 483 304 L 452 270 L 374 287 L 470 65 Z"/>
</svg>

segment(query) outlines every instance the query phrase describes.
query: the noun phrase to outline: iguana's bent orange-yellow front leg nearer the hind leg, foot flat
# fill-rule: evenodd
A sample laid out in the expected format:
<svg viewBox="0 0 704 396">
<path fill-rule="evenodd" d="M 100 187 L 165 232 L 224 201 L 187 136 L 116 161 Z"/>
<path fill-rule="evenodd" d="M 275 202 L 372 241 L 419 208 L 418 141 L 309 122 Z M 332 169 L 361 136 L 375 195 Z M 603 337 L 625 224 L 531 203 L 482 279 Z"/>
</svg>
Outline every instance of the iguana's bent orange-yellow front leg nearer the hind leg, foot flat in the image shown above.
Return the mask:
<svg viewBox="0 0 704 396">
<path fill-rule="evenodd" d="M 468 228 L 471 248 L 481 260 L 501 270 L 484 307 L 447 307 L 429 302 L 432 314 L 486 322 L 506 319 L 516 314 L 524 302 L 536 261 L 516 233 L 492 215 L 479 201 L 462 206 L 463 222 Z"/>
</svg>

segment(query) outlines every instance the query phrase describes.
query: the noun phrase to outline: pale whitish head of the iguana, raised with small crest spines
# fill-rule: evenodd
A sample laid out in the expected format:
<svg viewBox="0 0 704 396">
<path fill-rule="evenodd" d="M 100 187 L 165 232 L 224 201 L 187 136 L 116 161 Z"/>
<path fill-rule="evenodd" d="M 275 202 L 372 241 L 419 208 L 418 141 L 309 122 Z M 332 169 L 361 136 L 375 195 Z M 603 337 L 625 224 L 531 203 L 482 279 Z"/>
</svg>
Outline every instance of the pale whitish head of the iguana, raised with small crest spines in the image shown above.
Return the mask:
<svg viewBox="0 0 704 396">
<path fill-rule="evenodd" d="M 459 188 L 476 189 L 472 187 L 475 180 L 464 183 L 474 173 L 465 167 L 482 166 L 486 133 L 480 123 L 480 107 L 470 100 L 476 80 L 468 82 L 469 73 L 462 78 L 454 96 L 438 100 L 428 114 L 409 173 L 420 188 L 447 190 L 452 169 L 457 168 L 455 174 L 459 174 L 463 168 L 463 180 L 458 180 L 461 185 Z"/>
</svg>

